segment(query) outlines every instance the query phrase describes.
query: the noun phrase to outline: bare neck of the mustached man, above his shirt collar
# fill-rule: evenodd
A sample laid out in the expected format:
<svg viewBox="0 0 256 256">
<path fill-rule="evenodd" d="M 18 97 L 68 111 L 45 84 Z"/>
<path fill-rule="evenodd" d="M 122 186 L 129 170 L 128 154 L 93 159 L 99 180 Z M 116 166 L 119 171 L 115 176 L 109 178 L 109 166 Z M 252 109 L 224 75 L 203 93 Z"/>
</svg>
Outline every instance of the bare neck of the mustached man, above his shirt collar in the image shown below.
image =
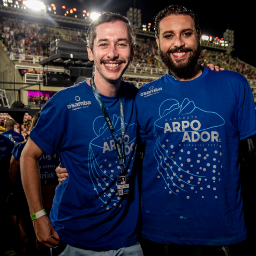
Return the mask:
<svg viewBox="0 0 256 256">
<path fill-rule="evenodd" d="M 90 85 L 90 80 L 86 81 Z M 113 97 L 117 95 L 121 84 L 121 78 L 116 81 L 105 80 L 98 72 L 95 70 L 94 82 L 100 94 Z"/>
</svg>

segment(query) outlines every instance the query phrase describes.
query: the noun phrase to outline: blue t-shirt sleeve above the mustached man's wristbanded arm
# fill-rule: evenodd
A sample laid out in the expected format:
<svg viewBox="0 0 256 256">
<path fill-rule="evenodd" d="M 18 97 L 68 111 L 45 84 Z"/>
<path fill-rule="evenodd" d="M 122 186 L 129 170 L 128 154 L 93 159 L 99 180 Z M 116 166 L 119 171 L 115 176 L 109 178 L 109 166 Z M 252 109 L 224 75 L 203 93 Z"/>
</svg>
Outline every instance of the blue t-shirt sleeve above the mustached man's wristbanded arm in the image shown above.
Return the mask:
<svg viewBox="0 0 256 256">
<path fill-rule="evenodd" d="M 60 148 L 64 134 L 63 122 L 65 119 L 61 121 L 61 109 L 58 110 L 54 101 L 49 100 L 29 136 L 41 150 L 53 155 Z"/>
</svg>

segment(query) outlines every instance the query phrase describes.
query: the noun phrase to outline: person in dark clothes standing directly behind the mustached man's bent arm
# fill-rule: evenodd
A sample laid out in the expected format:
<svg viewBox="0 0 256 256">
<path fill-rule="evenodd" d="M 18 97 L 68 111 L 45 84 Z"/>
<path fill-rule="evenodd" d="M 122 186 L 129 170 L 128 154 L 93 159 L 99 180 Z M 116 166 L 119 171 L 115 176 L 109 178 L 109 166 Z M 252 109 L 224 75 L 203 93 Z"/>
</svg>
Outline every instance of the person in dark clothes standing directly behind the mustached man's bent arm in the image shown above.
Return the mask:
<svg viewBox="0 0 256 256">
<path fill-rule="evenodd" d="M 40 112 L 36 113 L 33 117 L 31 130 L 37 123 L 39 116 Z M 29 207 L 20 177 L 20 155 L 25 145 L 26 142 L 19 143 L 12 150 L 9 169 L 11 192 L 9 193 L 6 208 L 15 229 L 15 233 L 17 233 L 18 230 L 18 233 L 15 236 L 17 238 L 17 241 L 15 241 L 15 244 L 17 244 L 15 251 L 20 254 L 36 253 L 36 255 L 41 255 L 47 253 L 47 250 L 43 246 L 40 246 L 41 244 L 36 243 L 36 236 L 29 214 Z M 52 207 L 55 188 L 58 185 L 58 178 L 55 174 L 55 168 L 58 166 L 58 159 L 58 152 L 56 152 L 53 156 L 45 153 L 39 160 L 41 194 L 48 215 Z"/>
</svg>

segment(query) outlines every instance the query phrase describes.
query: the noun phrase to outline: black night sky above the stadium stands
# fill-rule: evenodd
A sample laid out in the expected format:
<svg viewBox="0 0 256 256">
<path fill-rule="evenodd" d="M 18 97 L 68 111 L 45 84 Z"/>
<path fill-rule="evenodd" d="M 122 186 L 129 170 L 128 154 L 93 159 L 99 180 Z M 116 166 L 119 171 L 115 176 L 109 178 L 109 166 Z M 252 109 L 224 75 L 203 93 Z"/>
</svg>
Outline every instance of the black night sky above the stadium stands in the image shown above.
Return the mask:
<svg viewBox="0 0 256 256">
<path fill-rule="evenodd" d="M 166 1 L 166 0 L 45 0 L 45 4 L 54 3 L 57 14 L 63 12 L 62 5 L 69 8 L 86 9 L 87 12 L 118 12 L 126 16 L 129 7 L 141 9 L 142 23 L 153 23 L 157 12 L 172 4 L 183 5 L 200 18 L 202 34 L 223 37 L 227 28 L 234 30 L 235 50 L 232 55 L 238 56 L 256 67 L 256 51 L 248 49 L 256 41 L 256 1 L 247 4 L 234 4 L 233 1 Z M 254 2 L 254 3 L 253 3 Z M 59 7 L 58 7 L 59 6 Z"/>
</svg>

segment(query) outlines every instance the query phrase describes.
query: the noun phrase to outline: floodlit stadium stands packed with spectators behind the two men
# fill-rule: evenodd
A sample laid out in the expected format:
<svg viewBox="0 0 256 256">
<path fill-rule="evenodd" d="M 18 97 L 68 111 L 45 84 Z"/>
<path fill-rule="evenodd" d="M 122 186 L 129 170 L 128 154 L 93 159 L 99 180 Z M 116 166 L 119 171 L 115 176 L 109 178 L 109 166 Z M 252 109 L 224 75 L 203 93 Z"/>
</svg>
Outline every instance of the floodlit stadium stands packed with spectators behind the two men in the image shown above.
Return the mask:
<svg viewBox="0 0 256 256">
<path fill-rule="evenodd" d="M 86 32 L 93 13 L 61 6 L 30 9 L 25 1 L 0 3 L 0 119 L 12 116 L 21 126 L 58 90 L 84 81 L 94 73 L 86 50 Z M 27 1 L 29 2 L 29 1 Z M 65 8 L 64 8 L 65 7 Z M 130 8 L 137 42 L 134 61 L 123 80 L 140 87 L 163 76 L 167 69 L 157 53 L 154 28 L 141 24 L 140 10 Z M 243 74 L 256 102 L 256 68 L 232 56 L 234 32 L 223 38 L 203 35 L 200 63 L 213 63 Z M 23 106 L 24 105 L 24 106 Z M 15 107 L 15 108 L 14 108 Z M 29 113 L 29 115 L 28 115 Z M 25 121 L 24 121 L 24 118 Z"/>
</svg>

